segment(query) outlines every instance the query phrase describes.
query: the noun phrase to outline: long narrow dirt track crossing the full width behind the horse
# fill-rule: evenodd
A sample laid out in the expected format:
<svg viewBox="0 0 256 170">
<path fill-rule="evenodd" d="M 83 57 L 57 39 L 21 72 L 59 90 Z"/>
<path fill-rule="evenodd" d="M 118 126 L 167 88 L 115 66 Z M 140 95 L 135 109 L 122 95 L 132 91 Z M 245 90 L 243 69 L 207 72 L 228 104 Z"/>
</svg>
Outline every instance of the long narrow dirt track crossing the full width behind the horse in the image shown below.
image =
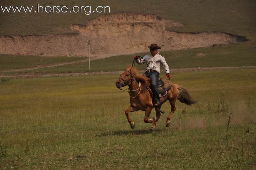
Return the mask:
<svg viewBox="0 0 256 170">
<path fill-rule="evenodd" d="M 198 67 L 198 68 L 177 68 L 170 69 L 170 72 L 183 72 L 183 71 L 208 71 L 208 70 L 227 70 L 227 69 L 256 69 L 256 66 L 243 66 L 243 67 Z M 1 76 L 11 79 L 19 78 L 38 78 L 38 77 L 71 77 L 71 76 L 93 76 L 93 75 L 118 75 L 123 71 L 107 71 L 107 72 L 88 72 L 88 73 L 61 73 L 61 74 L 34 74 L 34 75 L 18 75 L 18 76 Z M 145 71 L 138 71 L 144 73 Z"/>
</svg>

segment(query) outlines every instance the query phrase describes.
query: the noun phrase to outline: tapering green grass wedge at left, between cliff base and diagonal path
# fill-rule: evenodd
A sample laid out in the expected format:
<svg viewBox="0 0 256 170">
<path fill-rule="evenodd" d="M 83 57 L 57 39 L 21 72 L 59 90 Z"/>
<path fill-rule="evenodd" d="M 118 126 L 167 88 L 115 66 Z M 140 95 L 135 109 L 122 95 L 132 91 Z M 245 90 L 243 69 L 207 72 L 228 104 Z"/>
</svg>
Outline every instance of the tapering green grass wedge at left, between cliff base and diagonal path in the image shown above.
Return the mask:
<svg viewBox="0 0 256 170">
<path fill-rule="evenodd" d="M 0 55 L 0 70 L 24 69 L 49 64 L 82 60 L 81 57 L 40 57 L 40 56 L 14 56 Z"/>
</svg>

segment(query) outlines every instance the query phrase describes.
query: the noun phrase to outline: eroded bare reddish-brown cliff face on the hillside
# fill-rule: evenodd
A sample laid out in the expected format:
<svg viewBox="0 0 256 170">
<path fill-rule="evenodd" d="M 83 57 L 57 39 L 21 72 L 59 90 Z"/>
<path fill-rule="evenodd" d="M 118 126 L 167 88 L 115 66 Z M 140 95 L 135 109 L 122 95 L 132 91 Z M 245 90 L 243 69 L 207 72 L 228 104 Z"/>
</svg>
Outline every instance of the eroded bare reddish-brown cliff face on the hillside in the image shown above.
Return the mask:
<svg viewBox="0 0 256 170">
<path fill-rule="evenodd" d="M 169 31 L 183 24 L 153 14 L 114 13 L 73 24 L 70 34 L 0 36 L 0 53 L 40 56 L 87 56 L 87 40 L 91 56 L 147 52 L 157 43 L 162 50 L 177 50 L 246 41 L 245 37 L 223 32 L 181 33 Z"/>
</svg>

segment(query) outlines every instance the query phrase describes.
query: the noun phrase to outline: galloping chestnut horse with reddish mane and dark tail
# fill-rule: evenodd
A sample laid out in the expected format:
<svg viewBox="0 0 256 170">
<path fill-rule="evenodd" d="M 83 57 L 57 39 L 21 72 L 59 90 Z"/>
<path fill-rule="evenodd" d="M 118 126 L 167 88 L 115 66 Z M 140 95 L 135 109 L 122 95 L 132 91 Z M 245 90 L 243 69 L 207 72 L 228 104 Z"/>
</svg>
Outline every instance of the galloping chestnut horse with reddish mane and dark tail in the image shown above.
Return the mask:
<svg viewBox="0 0 256 170">
<path fill-rule="evenodd" d="M 125 110 L 125 115 L 127 120 L 133 129 L 135 127 L 135 123 L 131 120 L 129 116 L 129 112 L 134 112 L 138 110 L 145 111 L 144 122 L 145 123 L 153 123 L 150 130 L 155 130 L 155 126 L 157 124 L 158 119 L 160 118 L 160 109 L 161 105 L 169 100 L 171 105 L 171 111 L 166 120 L 166 127 L 170 125 L 170 118 L 172 114 L 175 112 L 175 102 L 178 99 L 180 102 L 185 103 L 187 105 L 191 105 L 196 103 L 194 101 L 188 91 L 186 91 L 182 86 L 173 84 L 169 81 L 172 86 L 168 91 L 167 95 L 161 97 L 161 104 L 155 108 L 156 117 L 149 119 L 151 110 L 153 109 L 152 97 L 147 87 L 150 86 L 150 79 L 144 75 L 137 74 L 137 69 L 132 67 L 131 65 L 120 75 L 116 82 L 116 87 L 121 88 L 123 86 L 128 85 L 130 90 L 130 107 Z M 168 80 L 166 80 L 168 81 Z"/>
</svg>

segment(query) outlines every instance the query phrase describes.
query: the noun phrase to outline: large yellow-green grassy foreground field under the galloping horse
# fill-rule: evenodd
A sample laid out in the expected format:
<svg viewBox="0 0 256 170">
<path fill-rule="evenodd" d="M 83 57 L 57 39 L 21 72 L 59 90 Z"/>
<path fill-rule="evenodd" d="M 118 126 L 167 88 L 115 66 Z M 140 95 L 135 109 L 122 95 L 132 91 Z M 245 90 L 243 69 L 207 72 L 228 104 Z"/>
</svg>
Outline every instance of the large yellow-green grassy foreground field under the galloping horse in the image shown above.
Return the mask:
<svg viewBox="0 0 256 170">
<path fill-rule="evenodd" d="M 255 74 L 174 72 L 172 81 L 199 101 L 177 102 L 171 127 L 163 114 L 154 133 L 142 111 L 131 113 L 130 129 L 118 75 L 0 82 L 0 168 L 255 169 Z"/>
</svg>

